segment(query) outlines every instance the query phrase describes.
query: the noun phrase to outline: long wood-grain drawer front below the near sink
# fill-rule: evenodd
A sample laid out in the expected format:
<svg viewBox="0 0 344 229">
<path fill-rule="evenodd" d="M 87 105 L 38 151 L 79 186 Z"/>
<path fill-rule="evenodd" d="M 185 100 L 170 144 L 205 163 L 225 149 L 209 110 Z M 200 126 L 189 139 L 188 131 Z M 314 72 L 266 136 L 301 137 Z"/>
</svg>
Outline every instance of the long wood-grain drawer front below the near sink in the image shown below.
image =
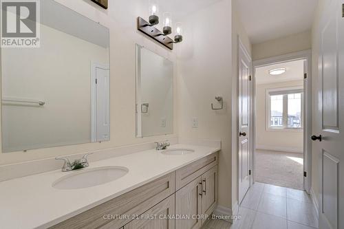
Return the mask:
<svg viewBox="0 0 344 229">
<path fill-rule="evenodd" d="M 174 192 L 175 175 L 173 172 L 58 223 L 56 226 L 52 226 L 52 228 L 94 229 L 105 228 L 105 225 L 106 228 L 121 228 L 132 220 L 132 215 L 141 215 Z M 128 215 L 130 217 L 104 219 L 104 215 Z"/>
</svg>

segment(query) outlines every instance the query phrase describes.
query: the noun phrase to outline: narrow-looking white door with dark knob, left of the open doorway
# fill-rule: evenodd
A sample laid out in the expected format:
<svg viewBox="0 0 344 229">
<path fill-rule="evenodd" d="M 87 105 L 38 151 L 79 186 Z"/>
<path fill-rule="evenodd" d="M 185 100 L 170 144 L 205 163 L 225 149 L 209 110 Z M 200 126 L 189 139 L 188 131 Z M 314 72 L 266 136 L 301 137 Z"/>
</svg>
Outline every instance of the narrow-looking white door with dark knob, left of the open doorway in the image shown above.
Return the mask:
<svg viewBox="0 0 344 229">
<path fill-rule="evenodd" d="M 250 187 L 250 66 L 243 45 L 239 45 L 239 204 Z"/>
</svg>

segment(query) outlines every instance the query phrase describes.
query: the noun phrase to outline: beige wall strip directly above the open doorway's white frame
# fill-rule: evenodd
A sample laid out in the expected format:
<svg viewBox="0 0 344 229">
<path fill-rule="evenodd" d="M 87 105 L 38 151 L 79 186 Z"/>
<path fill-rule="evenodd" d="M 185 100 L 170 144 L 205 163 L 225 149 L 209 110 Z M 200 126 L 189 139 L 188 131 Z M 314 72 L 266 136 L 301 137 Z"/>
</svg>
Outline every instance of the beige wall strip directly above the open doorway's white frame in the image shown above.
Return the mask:
<svg viewBox="0 0 344 229">
<path fill-rule="evenodd" d="M 253 61 L 257 61 L 262 58 L 310 50 L 311 47 L 311 32 L 305 31 L 299 34 L 292 34 L 280 39 L 252 45 L 252 58 Z"/>
</svg>

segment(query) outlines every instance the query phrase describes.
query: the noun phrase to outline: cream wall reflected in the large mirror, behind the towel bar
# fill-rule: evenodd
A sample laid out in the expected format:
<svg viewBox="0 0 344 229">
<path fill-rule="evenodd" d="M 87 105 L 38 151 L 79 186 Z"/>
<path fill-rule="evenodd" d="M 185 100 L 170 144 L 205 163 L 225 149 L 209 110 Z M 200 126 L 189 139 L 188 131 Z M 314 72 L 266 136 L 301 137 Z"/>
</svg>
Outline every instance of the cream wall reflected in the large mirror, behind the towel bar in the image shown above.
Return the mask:
<svg viewBox="0 0 344 229">
<path fill-rule="evenodd" d="M 3 96 L 45 102 L 3 106 L 6 151 L 90 142 L 91 63 L 108 65 L 108 50 L 45 25 L 41 35 L 40 48 L 2 52 Z"/>
</svg>

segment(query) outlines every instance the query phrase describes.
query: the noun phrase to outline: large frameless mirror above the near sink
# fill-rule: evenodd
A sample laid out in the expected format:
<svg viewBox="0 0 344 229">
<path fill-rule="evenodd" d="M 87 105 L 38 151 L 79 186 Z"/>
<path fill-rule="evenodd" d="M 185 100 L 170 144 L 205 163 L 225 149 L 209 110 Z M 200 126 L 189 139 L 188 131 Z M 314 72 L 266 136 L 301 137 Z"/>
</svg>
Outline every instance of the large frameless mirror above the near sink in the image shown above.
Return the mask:
<svg viewBox="0 0 344 229">
<path fill-rule="evenodd" d="M 40 47 L 1 49 L 3 152 L 109 140 L 109 29 L 40 1 Z"/>
</svg>

